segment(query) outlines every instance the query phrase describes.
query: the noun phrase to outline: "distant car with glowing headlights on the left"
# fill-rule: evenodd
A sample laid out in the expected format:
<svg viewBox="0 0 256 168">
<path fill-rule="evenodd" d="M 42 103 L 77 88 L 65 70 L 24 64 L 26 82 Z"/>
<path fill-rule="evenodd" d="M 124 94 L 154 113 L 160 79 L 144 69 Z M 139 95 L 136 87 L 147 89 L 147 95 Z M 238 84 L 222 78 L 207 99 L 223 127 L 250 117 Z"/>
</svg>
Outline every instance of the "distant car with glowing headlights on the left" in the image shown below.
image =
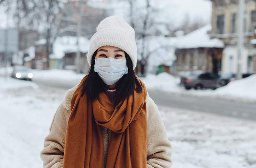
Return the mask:
<svg viewBox="0 0 256 168">
<path fill-rule="evenodd" d="M 28 69 L 26 66 L 14 66 L 11 77 L 32 81 L 33 73 L 31 73 L 30 69 Z"/>
</svg>

